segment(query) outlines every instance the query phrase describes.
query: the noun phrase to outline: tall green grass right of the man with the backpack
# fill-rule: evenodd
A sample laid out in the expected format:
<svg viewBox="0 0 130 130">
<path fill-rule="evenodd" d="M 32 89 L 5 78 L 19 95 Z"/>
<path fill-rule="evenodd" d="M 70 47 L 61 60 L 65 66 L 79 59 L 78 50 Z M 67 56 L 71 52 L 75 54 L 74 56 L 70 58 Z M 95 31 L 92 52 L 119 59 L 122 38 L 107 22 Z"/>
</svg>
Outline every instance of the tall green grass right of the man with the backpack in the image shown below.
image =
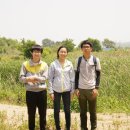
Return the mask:
<svg viewBox="0 0 130 130">
<path fill-rule="evenodd" d="M 130 111 L 130 50 L 102 52 L 99 111 Z"/>
</svg>

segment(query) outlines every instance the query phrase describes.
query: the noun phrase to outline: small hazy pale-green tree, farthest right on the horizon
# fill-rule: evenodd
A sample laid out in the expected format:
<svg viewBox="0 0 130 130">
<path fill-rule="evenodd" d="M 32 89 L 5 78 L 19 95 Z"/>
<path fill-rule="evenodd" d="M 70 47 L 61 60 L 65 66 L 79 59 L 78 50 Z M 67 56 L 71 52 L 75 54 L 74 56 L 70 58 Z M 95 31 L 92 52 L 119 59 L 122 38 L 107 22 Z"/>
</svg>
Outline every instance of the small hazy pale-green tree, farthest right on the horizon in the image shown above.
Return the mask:
<svg viewBox="0 0 130 130">
<path fill-rule="evenodd" d="M 116 43 L 107 38 L 104 39 L 104 41 L 102 42 L 102 45 L 106 48 L 116 48 Z"/>
</svg>

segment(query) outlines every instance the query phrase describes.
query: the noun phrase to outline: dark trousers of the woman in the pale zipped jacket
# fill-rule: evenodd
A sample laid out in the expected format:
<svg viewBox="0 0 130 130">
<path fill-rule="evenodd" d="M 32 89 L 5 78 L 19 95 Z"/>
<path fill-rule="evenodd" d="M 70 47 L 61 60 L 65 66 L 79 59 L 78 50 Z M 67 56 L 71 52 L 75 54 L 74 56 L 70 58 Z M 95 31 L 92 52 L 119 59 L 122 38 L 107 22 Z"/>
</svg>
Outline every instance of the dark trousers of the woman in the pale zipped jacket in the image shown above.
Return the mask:
<svg viewBox="0 0 130 130">
<path fill-rule="evenodd" d="M 54 92 L 54 119 L 56 130 L 61 130 L 60 128 L 60 100 L 63 100 L 65 120 L 66 120 L 66 129 L 70 130 L 70 92 L 57 93 Z"/>
</svg>

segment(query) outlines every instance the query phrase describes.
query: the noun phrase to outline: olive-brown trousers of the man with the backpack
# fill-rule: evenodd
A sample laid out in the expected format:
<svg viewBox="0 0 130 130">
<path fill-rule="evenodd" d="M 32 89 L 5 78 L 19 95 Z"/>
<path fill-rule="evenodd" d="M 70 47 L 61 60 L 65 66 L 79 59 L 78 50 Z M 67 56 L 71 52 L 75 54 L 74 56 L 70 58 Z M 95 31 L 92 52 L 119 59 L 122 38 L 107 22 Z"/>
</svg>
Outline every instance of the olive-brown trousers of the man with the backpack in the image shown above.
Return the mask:
<svg viewBox="0 0 130 130">
<path fill-rule="evenodd" d="M 87 108 L 89 108 L 91 130 L 97 127 L 96 103 L 97 98 L 91 99 L 92 90 L 79 89 L 79 105 L 80 105 L 80 120 L 81 129 L 88 130 L 87 128 Z"/>
</svg>

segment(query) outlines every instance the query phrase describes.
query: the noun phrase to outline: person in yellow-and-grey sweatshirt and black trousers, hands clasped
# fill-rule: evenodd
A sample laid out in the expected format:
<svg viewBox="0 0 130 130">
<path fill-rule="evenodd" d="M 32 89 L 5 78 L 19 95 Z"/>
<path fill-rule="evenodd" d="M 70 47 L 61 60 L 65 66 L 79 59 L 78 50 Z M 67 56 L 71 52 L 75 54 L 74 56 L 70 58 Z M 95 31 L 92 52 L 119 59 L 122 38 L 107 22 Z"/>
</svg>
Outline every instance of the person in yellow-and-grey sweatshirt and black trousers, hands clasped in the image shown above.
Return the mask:
<svg viewBox="0 0 130 130">
<path fill-rule="evenodd" d="M 32 58 L 22 64 L 20 71 L 20 81 L 26 86 L 29 130 L 35 130 L 36 107 L 39 112 L 40 130 L 46 129 L 48 65 L 41 60 L 42 52 L 40 45 L 32 46 Z"/>
</svg>

